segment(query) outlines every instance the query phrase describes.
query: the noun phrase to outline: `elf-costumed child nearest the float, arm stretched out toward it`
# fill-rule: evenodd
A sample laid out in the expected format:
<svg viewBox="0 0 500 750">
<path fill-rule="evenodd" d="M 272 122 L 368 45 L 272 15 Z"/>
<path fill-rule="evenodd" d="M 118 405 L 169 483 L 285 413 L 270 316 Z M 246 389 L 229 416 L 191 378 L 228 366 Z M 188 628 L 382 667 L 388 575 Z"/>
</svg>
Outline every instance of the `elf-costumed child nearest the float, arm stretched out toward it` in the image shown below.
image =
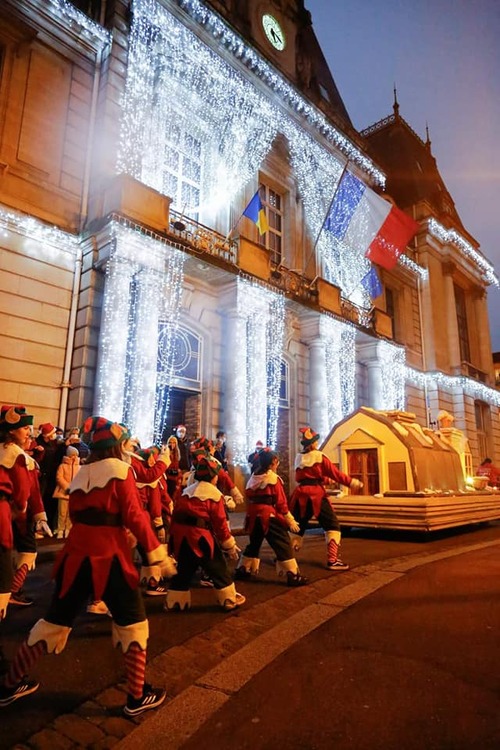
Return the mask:
<svg viewBox="0 0 500 750">
<path fill-rule="evenodd" d="M 299 524 L 298 533 L 292 534 L 293 548 L 296 552 L 300 550 L 307 525 L 315 516 L 325 532 L 326 567 L 328 570 L 348 570 L 349 565 L 339 557 L 340 524 L 328 501 L 325 483 L 333 480 L 353 490 L 361 489 L 363 483 L 339 471 L 330 459 L 318 450 L 317 432 L 310 427 L 302 427 L 300 432 L 303 450 L 295 458 L 295 481 L 298 486 L 290 498 L 290 509 Z"/>
</svg>

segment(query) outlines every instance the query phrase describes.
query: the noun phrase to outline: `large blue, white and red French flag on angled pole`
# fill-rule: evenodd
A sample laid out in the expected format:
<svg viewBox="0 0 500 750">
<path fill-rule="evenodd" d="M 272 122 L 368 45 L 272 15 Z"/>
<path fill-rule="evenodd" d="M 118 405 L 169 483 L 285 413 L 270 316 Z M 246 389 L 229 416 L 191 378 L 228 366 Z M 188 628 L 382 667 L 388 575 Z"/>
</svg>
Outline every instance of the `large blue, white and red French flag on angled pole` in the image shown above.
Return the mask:
<svg viewBox="0 0 500 750">
<path fill-rule="evenodd" d="M 346 170 L 324 228 L 390 271 L 416 234 L 418 224 Z"/>
</svg>

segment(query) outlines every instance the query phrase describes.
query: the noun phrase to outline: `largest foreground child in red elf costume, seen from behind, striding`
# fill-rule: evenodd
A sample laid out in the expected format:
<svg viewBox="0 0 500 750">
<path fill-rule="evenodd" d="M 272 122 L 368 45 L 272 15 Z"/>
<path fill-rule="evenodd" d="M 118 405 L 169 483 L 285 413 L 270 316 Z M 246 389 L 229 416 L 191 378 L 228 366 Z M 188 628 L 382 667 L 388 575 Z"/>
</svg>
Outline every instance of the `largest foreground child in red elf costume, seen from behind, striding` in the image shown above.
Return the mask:
<svg viewBox="0 0 500 750">
<path fill-rule="evenodd" d="M 90 435 L 90 455 L 70 486 L 73 525 L 56 560 L 52 602 L 19 648 L 0 686 L 0 707 L 39 687 L 26 678 L 27 673 L 43 654 L 64 649 L 73 621 L 91 596 L 103 600 L 111 612 L 113 644 L 125 656 L 128 697 L 123 710 L 136 716 L 159 706 L 165 691 L 144 682 L 148 621 L 129 533 L 164 576 L 172 575 L 175 566 L 141 508 L 131 466 L 123 460 L 123 428 L 103 417 L 89 417 L 84 429 Z"/>
</svg>

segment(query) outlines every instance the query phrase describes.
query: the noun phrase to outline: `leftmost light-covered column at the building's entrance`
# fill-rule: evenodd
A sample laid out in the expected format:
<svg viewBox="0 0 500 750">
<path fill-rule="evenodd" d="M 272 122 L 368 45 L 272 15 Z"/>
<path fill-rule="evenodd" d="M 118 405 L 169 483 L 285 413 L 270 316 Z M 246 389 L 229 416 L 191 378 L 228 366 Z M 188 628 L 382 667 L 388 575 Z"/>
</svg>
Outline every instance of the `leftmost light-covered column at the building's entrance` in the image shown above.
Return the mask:
<svg viewBox="0 0 500 750">
<path fill-rule="evenodd" d="M 99 336 L 94 413 L 115 422 L 124 416 L 130 287 L 136 266 L 108 261 Z"/>
</svg>

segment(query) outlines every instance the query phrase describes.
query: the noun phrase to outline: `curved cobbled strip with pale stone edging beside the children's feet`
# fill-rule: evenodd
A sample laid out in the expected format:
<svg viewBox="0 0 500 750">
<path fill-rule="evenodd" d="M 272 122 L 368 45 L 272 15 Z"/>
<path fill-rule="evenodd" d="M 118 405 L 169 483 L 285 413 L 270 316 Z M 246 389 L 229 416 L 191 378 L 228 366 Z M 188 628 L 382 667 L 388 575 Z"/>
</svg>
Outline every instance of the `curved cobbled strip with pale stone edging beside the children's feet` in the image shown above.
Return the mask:
<svg viewBox="0 0 500 750">
<path fill-rule="evenodd" d="M 243 518 L 244 514 L 232 514 L 235 533 L 241 529 Z M 244 607 L 222 620 L 218 618 L 216 625 L 168 648 L 148 663 L 148 679 L 167 690 L 168 702 L 159 710 L 132 720 L 124 718 L 121 707 L 125 685 L 120 683 L 86 701 L 73 713 L 59 716 L 24 745 L 16 746 L 16 750 L 101 750 L 112 746 L 137 750 L 153 742 L 167 750 L 180 748 L 257 672 L 324 622 L 416 566 L 499 544 L 498 538 L 471 544 L 465 536 L 458 543 L 444 540 L 438 543 L 439 549 L 433 546 L 431 551 L 426 545 L 411 554 L 367 564 L 359 564 L 359 559 L 356 564 L 350 553 L 351 570 L 332 575 L 322 570 L 319 562 L 324 556 L 322 535 L 308 534 L 304 558 L 314 565 L 315 575 L 320 577 L 304 588 L 277 585 L 271 592 L 265 580 L 239 584 L 248 597 Z M 47 544 L 45 554 L 53 554 L 59 548 L 60 544 Z M 268 598 L 262 600 L 264 589 Z M 190 613 L 169 615 L 189 616 Z"/>
</svg>

